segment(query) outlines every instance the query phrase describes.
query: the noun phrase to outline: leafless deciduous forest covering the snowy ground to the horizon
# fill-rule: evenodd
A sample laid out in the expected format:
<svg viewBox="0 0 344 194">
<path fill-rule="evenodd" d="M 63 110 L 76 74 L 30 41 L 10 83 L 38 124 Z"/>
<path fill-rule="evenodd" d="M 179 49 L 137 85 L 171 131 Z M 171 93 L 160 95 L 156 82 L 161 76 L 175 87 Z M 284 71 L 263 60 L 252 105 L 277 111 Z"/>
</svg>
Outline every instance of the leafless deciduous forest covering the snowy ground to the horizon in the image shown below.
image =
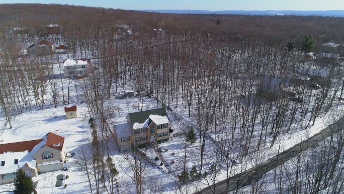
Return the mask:
<svg viewBox="0 0 344 194">
<path fill-rule="evenodd" d="M 60 32 L 47 33 L 49 24 L 58 24 Z M 115 108 L 109 100 L 115 99 L 117 84 L 129 86 L 139 98 L 140 111 L 148 98 L 156 107 L 177 112 L 178 120 L 178 107 L 183 107 L 187 112 L 183 119 L 195 129 L 196 172 L 184 165 L 175 173 L 185 175 L 188 170 L 202 175 L 176 180 L 175 192 L 189 193 L 192 185 L 192 191 L 209 187 L 218 193 L 215 183 L 220 171 L 230 178 L 238 173 L 233 166 L 248 163 L 247 158 L 250 165 L 241 165 L 241 170 L 258 167 L 267 158 L 256 153 L 342 106 L 343 55 L 339 52 L 339 57 L 329 59 L 319 53 L 325 52 L 324 43 L 344 43 L 343 24 L 344 18 L 320 16 L 178 15 L 68 5 L 0 5 L 1 110 L 12 128 L 13 116 L 69 104 L 70 91 L 75 89 L 77 101 L 85 100 L 93 119 L 90 146 L 81 149 L 78 163 L 87 172 L 91 191 L 115 193 L 114 165 L 121 166 L 109 155 L 113 147 L 109 137 L 116 123 L 113 115 L 121 115 L 124 107 L 129 110 L 129 104 Z M 24 32 L 15 33 L 14 28 Z M 127 30 L 132 34 L 123 33 Z M 307 37 L 314 38 L 314 45 L 307 44 Z M 97 71 L 71 82 L 72 78 L 63 78 L 63 67 L 57 73 L 54 69 L 65 60 L 61 55 L 21 56 L 42 39 L 66 45 L 70 58 L 90 58 Z M 332 51 L 336 52 L 326 50 Z M 51 96 L 49 102 L 46 95 Z M 264 177 L 242 189 L 239 177 L 234 193 L 344 192 L 344 144 L 341 130 L 337 131 L 314 152 L 300 153 L 276 167 L 275 174 L 267 174 L 273 181 Z M 207 146 L 209 140 L 213 150 Z M 185 161 L 187 149 L 185 142 L 181 150 Z M 209 157 L 208 153 L 214 154 Z M 128 176 L 135 192 L 162 193 L 161 185 L 154 191 L 147 186 L 146 164 L 137 150 L 123 158 L 134 172 Z"/>
</svg>

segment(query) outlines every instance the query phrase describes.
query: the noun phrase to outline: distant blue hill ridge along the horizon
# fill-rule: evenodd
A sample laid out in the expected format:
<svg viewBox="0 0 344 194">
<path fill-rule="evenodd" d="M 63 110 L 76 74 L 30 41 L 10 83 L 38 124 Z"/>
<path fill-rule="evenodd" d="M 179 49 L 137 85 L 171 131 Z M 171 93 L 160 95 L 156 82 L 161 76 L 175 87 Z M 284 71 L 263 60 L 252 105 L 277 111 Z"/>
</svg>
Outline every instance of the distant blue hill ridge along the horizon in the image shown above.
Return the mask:
<svg viewBox="0 0 344 194">
<path fill-rule="evenodd" d="M 170 13 L 170 14 L 228 14 L 228 15 L 296 15 L 296 16 L 333 16 L 344 17 L 344 10 L 329 11 L 293 11 L 293 10 L 266 10 L 266 11 L 244 11 L 244 10 L 224 10 L 224 11 L 206 11 L 206 10 L 138 10 L 144 12 Z"/>
</svg>

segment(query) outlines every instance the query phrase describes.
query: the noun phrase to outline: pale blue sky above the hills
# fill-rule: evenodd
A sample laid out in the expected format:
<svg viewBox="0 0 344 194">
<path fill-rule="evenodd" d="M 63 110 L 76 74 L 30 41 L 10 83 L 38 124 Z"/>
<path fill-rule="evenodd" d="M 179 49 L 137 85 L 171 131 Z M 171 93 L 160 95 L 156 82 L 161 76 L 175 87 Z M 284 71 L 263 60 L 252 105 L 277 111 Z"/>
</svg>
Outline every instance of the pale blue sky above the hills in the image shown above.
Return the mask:
<svg viewBox="0 0 344 194">
<path fill-rule="evenodd" d="M 344 10 L 343 0 L 0 0 L 0 3 L 69 4 L 124 10 Z"/>
</svg>

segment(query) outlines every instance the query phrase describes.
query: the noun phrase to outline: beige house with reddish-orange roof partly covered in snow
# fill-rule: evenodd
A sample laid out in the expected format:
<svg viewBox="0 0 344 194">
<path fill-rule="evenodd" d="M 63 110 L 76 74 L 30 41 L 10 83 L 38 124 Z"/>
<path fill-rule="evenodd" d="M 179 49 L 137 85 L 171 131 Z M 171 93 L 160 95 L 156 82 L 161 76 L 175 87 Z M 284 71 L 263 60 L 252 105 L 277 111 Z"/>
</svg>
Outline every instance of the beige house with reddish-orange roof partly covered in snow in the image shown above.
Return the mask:
<svg viewBox="0 0 344 194">
<path fill-rule="evenodd" d="M 11 183 L 18 168 L 27 176 L 61 170 L 65 160 L 64 138 L 48 133 L 43 139 L 0 145 L 1 184 Z"/>
</svg>

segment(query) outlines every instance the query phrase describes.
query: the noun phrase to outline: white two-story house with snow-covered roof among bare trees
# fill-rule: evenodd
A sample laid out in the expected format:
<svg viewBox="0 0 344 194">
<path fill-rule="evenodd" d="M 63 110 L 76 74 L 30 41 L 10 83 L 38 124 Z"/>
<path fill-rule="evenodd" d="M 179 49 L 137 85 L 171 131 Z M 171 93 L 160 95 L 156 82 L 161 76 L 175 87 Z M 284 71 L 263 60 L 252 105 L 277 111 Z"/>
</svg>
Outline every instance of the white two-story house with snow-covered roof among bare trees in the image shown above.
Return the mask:
<svg viewBox="0 0 344 194">
<path fill-rule="evenodd" d="M 94 73 L 95 69 L 92 66 L 90 59 L 71 59 L 68 58 L 63 61 L 64 78 L 83 78 L 88 77 L 90 73 Z"/>
</svg>

